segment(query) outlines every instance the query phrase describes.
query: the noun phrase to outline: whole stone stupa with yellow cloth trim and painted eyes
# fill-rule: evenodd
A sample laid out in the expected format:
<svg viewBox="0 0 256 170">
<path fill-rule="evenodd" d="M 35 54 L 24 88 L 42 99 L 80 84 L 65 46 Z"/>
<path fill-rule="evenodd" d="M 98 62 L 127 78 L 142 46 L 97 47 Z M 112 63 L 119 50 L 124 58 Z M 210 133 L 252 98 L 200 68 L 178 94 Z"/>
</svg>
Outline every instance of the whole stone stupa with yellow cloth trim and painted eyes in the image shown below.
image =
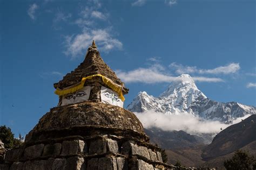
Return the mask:
<svg viewBox="0 0 256 170">
<path fill-rule="evenodd" d="M 173 169 L 149 143 L 139 119 L 123 109 L 129 89 L 93 41 L 85 59 L 54 84 L 59 95 L 0 169 Z"/>
</svg>

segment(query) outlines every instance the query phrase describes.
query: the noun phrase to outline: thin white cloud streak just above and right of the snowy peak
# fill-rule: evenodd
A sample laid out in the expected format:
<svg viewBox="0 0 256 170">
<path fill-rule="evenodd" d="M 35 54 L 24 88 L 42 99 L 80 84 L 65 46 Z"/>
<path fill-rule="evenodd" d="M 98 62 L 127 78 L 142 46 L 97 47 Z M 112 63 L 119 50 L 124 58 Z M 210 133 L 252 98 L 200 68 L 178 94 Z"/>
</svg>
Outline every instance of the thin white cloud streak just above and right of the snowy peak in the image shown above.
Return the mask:
<svg viewBox="0 0 256 170">
<path fill-rule="evenodd" d="M 196 66 L 183 66 L 178 63 L 171 63 L 171 68 L 176 69 L 176 73 L 199 73 L 199 74 L 233 74 L 240 69 L 239 63 L 230 63 L 226 66 L 220 66 L 213 69 L 198 69 Z"/>
</svg>

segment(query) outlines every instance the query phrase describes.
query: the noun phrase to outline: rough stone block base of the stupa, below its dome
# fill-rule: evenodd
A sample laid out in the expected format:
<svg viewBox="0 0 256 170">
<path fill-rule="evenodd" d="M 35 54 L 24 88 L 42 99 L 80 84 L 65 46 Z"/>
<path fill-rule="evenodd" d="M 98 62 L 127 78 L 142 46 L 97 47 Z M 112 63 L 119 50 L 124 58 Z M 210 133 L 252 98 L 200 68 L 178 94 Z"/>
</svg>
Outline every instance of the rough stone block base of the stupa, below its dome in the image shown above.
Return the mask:
<svg viewBox="0 0 256 170">
<path fill-rule="evenodd" d="M 164 164 L 159 148 L 140 141 L 104 135 L 42 141 L 11 150 L 0 169 L 186 169 Z"/>
</svg>

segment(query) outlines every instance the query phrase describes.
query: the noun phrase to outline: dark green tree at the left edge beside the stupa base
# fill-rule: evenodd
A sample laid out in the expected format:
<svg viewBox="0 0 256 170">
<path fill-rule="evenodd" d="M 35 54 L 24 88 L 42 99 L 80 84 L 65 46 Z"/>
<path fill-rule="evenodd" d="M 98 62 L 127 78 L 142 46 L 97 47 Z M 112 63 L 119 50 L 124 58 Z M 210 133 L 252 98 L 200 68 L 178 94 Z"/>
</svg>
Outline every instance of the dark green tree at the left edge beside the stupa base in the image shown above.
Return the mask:
<svg viewBox="0 0 256 170">
<path fill-rule="evenodd" d="M 5 148 L 12 148 L 14 146 L 14 133 L 5 125 L 0 126 L 0 139 L 3 141 Z"/>
</svg>

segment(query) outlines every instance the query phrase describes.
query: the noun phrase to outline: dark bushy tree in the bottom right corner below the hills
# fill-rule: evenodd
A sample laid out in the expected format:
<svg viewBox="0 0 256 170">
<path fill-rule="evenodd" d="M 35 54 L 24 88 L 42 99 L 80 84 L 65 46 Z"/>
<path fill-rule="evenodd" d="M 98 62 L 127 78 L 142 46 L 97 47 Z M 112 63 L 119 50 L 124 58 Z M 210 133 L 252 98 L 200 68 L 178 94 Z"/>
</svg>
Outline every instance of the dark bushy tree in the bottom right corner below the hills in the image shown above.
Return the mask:
<svg viewBox="0 0 256 170">
<path fill-rule="evenodd" d="M 243 170 L 249 169 L 254 161 L 254 157 L 250 156 L 248 152 L 237 150 L 231 159 L 224 161 L 224 166 L 227 170 Z"/>
</svg>

